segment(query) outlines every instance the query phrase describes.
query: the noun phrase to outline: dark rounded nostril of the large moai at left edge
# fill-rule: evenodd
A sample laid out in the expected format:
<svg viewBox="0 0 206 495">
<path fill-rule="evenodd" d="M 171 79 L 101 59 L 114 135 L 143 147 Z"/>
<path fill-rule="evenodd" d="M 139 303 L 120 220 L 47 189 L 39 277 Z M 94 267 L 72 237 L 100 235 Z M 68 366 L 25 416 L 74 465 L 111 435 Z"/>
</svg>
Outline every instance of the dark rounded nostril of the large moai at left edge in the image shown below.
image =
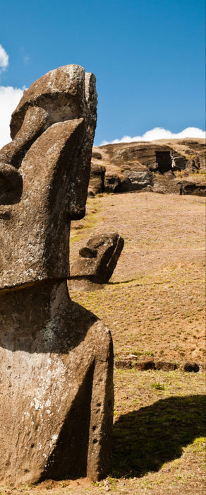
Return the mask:
<svg viewBox="0 0 206 495">
<path fill-rule="evenodd" d="M 0 163 L 0 204 L 15 204 L 20 201 L 23 180 L 16 168 Z"/>
</svg>

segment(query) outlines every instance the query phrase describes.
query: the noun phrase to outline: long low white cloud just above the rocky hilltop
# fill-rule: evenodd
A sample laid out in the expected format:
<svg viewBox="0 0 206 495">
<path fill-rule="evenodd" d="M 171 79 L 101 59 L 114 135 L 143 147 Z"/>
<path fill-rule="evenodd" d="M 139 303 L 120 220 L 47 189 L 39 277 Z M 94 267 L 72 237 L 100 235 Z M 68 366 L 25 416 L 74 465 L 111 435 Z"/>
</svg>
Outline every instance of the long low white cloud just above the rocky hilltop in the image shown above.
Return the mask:
<svg viewBox="0 0 206 495">
<path fill-rule="evenodd" d="M 186 137 L 206 138 L 206 132 L 198 127 L 187 127 L 183 131 L 174 133 L 164 129 L 163 127 L 154 127 L 150 131 L 145 132 L 143 136 L 123 136 L 121 139 L 114 139 L 114 141 L 102 141 L 100 146 L 104 144 L 118 144 L 118 143 L 132 143 L 135 141 L 155 141 L 157 139 L 183 139 Z"/>
</svg>

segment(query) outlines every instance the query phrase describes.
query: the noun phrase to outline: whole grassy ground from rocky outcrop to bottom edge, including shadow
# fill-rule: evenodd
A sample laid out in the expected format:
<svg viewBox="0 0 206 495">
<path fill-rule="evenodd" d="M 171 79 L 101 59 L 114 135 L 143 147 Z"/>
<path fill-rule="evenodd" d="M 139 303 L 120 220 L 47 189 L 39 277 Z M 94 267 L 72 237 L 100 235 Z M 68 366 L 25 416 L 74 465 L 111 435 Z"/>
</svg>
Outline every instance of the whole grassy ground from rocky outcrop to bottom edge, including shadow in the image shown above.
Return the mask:
<svg viewBox="0 0 206 495">
<path fill-rule="evenodd" d="M 205 362 L 205 199 L 150 192 L 101 194 L 73 222 L 71 264 L 96 233 L 125 240 L 107 286 L 71 291 L 111 329 L 114 355 Z M 113 472 L 0 495 L 205 494 L 205 373 L 114 368 Z"/>
</svg>

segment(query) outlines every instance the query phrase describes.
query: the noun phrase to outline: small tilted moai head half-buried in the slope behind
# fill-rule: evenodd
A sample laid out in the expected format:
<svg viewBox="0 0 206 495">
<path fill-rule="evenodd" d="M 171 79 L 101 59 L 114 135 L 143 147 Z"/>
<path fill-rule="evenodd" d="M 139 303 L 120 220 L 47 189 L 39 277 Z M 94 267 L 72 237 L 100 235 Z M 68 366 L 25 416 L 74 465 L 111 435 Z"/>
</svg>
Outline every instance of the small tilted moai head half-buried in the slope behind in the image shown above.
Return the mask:
<svg viewBox="0 0 206 495">
<path fill-rule="evenodd" d="M 123 238 L 117 233 L 93 235 L 71 267 L 71 282 L 88 280 L 107 284 L 123 250 Z M 76 285 L 76 287 L 78 287 Z"/>
</svg>

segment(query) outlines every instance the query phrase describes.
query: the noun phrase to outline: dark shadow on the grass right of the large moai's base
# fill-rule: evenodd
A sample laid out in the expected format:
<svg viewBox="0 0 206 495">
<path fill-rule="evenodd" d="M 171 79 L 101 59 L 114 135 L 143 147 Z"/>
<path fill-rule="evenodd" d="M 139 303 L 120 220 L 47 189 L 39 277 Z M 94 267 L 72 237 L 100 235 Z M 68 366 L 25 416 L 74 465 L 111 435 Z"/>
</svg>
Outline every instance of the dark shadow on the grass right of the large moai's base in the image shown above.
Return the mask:
<svg viewBox="0 0 206 495">
<path fill-rule="evenodd" d="M 113 476 L 141 477 L 180 458 L 183 447 L 206 434 L 206 397 L 158 400 L 114 423 Z"/>
</svg>

